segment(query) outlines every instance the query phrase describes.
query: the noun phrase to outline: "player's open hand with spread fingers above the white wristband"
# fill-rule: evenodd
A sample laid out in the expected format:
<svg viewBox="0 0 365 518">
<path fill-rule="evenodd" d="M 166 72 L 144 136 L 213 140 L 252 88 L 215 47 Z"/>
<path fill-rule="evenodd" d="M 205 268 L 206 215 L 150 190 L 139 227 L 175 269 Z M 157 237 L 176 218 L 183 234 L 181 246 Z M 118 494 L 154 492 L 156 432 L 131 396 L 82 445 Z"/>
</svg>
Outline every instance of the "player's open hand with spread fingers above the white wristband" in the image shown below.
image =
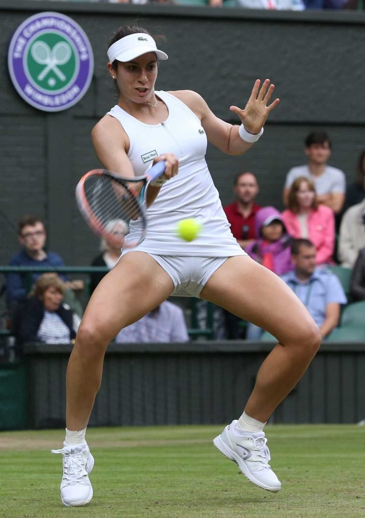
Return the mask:
<svg viewBox="0 0 365 518">
<path fill-rule="evenodd" d="M 270 79 L 265 79 L 261 88 L 260 84 L 260 79 L 257 79 L 244 110 L 237 106 L 230 107 L 230 110 L 240 117 L 245 130 L 254 135 L 260 133 L 269 113 L 279 104 L 279 99 L 275 99 L 268 105 L 275 88 L 270 84 Z"/>
</svg>

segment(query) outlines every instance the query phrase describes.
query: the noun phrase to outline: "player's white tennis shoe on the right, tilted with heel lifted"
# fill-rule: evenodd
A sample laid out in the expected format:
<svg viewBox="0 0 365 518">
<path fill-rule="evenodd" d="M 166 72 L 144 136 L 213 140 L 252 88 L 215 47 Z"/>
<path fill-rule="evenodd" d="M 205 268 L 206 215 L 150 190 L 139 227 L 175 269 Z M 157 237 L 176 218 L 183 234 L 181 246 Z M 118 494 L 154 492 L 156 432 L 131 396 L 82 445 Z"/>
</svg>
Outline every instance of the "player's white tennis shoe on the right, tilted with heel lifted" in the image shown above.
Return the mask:
<svg viewBox="0 0 365 518">
<path fill-rule="evenodd" d="M 214 439 L 215 447 L 230 461 L 234 461 L 248 480 L 262 489 L 276 493 L 282 484 L 269 465 L 270 452 L 264 432 L 241 433 L 236 431 L 236 422 L 232 421 Z"/>
</svg>

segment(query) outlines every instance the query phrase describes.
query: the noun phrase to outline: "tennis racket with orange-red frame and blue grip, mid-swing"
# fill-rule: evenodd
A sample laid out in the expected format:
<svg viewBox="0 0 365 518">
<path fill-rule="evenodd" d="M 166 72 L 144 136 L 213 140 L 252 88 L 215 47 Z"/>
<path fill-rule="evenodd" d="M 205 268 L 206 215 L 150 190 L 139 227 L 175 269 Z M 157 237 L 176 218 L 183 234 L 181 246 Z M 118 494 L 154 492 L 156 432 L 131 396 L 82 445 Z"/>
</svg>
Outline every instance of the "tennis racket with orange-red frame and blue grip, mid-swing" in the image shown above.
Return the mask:
<svg viewBox="0 0 365 518">
<path fill-rule="evenodd" d="M 147 233 L 146 195 L 148 184 L 165 172 L 165 161 L 152 166 L 145 176 L 127 178 L 106 169 L 87 172 L 76 186 L 78 208 L 95 234 L 116 246 L 133 248 L 142 243 Z M 143 182 L 138 193 L 133 185 Z M 141 220 L 141 232 L 124 243 L 131 220 Z"/>
</svg>

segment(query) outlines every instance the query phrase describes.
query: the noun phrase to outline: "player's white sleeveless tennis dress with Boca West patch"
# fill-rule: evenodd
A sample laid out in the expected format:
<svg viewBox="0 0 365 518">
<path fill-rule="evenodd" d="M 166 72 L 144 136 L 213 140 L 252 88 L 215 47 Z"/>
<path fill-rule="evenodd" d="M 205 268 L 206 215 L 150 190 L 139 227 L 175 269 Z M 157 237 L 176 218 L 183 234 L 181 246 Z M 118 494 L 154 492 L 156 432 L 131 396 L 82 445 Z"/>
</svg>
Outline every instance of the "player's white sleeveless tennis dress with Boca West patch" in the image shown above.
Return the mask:
<svg viewBox="0 0 365 518">
<path fill-rule="evenodd" d="M 117 105 L 108 112 L 119 120 L 130 139 L 128 157 L 135 175 L 144 175 L 152 160 L 163 153 L 174 153 L 179 160 L 178 175 L 162 185 L 155 202 L 147 209 L 146 238 L 132 250 L 155 257 L 171 277 L 171 271 L 157 256 L 227 258 L 246 255 L 232 236 L 210 176 L 205 161 L 207 138 L 201 121 L 175 96 L 163 91 L 155 93 L 169 110 L 164 122 L 145 124 Z M 176 235 L 177 223 L 187 218 L 196 218 L 202 224 L 201 233 L 191 242 Z M 125 240 L 135 240 L 138 232 L 141 232 L 141 223 L 137 220 L 131 223 Z M 131 249 L 124 249 L 122 255 L 129 251 Z M 222 262 L 224 260 L 219 261 L 217 267 Z M 173 281 L 176 287 L 176 279 Z"/>
</svg>

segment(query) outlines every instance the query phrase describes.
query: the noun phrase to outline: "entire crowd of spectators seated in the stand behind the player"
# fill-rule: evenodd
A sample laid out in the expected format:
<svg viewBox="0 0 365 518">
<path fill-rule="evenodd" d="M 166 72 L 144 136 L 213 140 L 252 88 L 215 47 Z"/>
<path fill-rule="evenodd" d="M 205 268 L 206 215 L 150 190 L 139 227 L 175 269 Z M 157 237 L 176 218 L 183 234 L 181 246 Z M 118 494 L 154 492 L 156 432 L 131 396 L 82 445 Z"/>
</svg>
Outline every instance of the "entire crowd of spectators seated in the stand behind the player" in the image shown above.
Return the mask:
<svg viewBox="0 0 365 518">
<path fill-rule="evenodd" d="M 286 176 L 284 211 L 260 206 L 258 178 L 243 171 L 234 179 L 234 200 L 224 212 L 238 244 L 252 259 L 282 277 L 311 313 L 324 339 L 341 335 L 339 326 L 342 328 L 345 313 L 345 321 L 352 323 L 347 339 L 352 332 L 365 339 L 364 319 L 356 316 L 361 311 L 365 315 L 365 150 L 360 153 L 355 179 L 346 188 L 344 172 L 328 164 L 331 147 L 324 131 L 306 137 L 306 164 L 292 167 Z M 111 225 L 128 232 L 121 221 Z M 25 215 L 18 224 L 18 239 L 20 250 L 12 255 L 9 266 L 52 269 L 64 265 L 59 254 L 47 250 L 46 227 L 39 218 Z M 33 271 L 31 278 L 17 271 L 7 274 L 9 330 L 16 337 L 18 352 L 21 354 L 25 342 L 71 342 L 83 312 L 80 293 L 87 290 L 91 295 L 119 256 L 120 248 L 103 239 L 91 266 L 105 270 L 92 272 L 87 285 L 54 272 Z M 197 326 L 206 328 L 207 303 L 196 301 L 195 312 Z M 186 312 L 166 301 L 122 329 L 115 341 L 188 341 L 187 320 Z M 255 324 L 217 307 L 212 321 L 214 338 L 269 338 Z"/>
</svg>

